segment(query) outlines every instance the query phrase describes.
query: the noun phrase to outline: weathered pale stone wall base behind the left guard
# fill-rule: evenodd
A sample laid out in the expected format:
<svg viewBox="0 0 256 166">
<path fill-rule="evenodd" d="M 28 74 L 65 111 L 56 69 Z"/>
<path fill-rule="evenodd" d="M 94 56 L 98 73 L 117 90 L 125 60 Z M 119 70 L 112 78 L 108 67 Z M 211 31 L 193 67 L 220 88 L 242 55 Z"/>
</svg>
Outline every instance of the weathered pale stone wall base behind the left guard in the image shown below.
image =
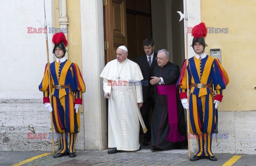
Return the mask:
<svg viewBox="0 0 256 166">
<path fill-rule="evenodd" d="M 42 100 L 0 100 L 0 150 L 51 151 L 51 114 Z M 81 132 L 76 150 L 84 150 L 84 120 L 81 113 Z M 58 135 L 55 150 L 59 149 Z"/>
</svg>

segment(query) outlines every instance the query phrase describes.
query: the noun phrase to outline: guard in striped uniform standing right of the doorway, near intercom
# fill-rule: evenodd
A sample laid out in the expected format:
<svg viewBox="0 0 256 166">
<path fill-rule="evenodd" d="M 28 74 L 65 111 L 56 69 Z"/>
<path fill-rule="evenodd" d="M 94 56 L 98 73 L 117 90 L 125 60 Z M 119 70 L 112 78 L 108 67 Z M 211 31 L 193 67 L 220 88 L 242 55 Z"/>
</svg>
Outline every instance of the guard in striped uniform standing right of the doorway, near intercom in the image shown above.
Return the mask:
<svg viewBox="0 0 256 166">
<path fill-rule="evenodd" d="M 223 97 L 222 91 L 226 89 L 229 82 L 220 61 L 205 54 L 206 35 L 207 28 L 203 22 L 192 29 L 194 38 L 191 46 L 195 55 L 188 59 L 188 65 L 185 60 L 177 82 L 182 105 L 186 109 L 189 108 L 190 133 L 197 139 L 198 151 L 190 161 L 205 158 L 217 161 L 211 150 L 212 134 L 218 133 L 217 107 Z M 187 75 L 189 85 L 187 85 Z M 187 86 L 189 86 L 189 102 Z"/>
</svg>

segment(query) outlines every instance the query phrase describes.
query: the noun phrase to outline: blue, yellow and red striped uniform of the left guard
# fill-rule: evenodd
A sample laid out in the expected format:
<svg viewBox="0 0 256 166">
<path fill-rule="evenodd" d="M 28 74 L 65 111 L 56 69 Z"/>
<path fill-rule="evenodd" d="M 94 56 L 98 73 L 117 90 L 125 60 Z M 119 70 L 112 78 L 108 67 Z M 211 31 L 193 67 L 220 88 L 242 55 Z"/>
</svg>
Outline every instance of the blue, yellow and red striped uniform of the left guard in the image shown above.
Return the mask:
<svg viewBox="0 0 256 166">
<path fill-rule="evenodd" d="M 69 85 L 70 87 L 65 89 L 52 88 L 51 94 L 55 132 L 61 133 L 62 150 L 60 153 L 66 153 L 67 151 L 72 153 L 74 152 L 76 133 L 79 132 L 80 126 L 79 112 L 76 113 L 74 107 L 75 104 L 82 104 L 82 93 L 85 92 L 85 84 L 78 65 L 69 60 L 62 63 L 57 61 L 51 63 L 50 73 L 51 88 L 53 85 Z M 43 102 L 50 102 L 47 64 L 39 90 L 43 92 Z M 71 92 L 76 92 L 75 101 Z M 67 137 L 70 137 L 70 150 L 67 147 Z"/>
</svg>

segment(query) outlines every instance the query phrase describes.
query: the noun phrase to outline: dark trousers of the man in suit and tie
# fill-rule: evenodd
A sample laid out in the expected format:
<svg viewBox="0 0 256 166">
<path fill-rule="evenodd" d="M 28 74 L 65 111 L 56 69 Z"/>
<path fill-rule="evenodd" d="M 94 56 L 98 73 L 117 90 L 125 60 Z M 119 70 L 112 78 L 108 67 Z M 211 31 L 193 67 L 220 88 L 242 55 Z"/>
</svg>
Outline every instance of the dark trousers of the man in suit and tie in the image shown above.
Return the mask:
<svg viewBox="0 0 256 166">
<path fill-rule="evenodd" d="M 143 99 L 144 100 L 144 99 Z M 154 100 L 154 93 L 149 94 L 146 101 L 143 102 L 143 106 L 140 108 L 141 116 L 143 118 L 143 121 L 145 123 L 145 126 L 148 129 L 148 132 L 144 134 L 144 139 L 147 139 L 147 141 L 150 141 L 151 139 L 151 121 L 149 121 L 149 115 L 150 115 L 150 108 L 152 111 L 155 107 L 155 100 Z"/>
</svg>

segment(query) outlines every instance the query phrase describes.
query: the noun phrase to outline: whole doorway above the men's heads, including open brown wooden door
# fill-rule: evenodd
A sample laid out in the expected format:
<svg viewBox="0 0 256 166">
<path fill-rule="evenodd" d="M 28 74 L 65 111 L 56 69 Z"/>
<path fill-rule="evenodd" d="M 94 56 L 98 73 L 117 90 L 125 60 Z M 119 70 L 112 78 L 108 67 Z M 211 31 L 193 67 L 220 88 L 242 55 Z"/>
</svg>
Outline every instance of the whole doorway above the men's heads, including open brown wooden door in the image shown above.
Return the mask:
<svg viewBox="0 0 256 166">
<path fill-rule="evenodd" d="M 170 61 L 182 66 L 185 60 L 183 0 L 108 0 L 104 7 L 105 60 L 115 59 L 115 50 L 125 45 L 128 58 L 144 54 L 142 42 L 153 38 L 155 51 L 167 49 Z"/>
</svg>

